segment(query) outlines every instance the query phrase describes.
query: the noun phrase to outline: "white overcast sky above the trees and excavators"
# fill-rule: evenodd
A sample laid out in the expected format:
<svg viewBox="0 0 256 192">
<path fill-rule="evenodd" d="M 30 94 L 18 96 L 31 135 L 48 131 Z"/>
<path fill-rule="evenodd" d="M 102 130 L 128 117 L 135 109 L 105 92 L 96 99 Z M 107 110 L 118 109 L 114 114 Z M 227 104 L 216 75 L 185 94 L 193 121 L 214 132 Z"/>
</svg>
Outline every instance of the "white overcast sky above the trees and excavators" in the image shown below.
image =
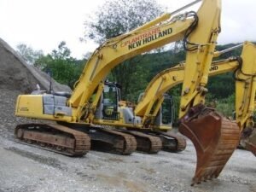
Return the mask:
<svg viewBox="0 0 256 192">
<path fill-rule="evenodd" d="M 13 48 L 27 44 L 49 53 L 62 41 L 72 55 L 81 58 L 96 49 L 92 42 L 81 43 L 84 20 L 105 0 L 0 0 L 0 38 Z M 173 10 L 192 0 L 158 0 Z M 256 40 L 256 1 L 223 0 L 222 32 L 218 44 Z"/>
</svg>

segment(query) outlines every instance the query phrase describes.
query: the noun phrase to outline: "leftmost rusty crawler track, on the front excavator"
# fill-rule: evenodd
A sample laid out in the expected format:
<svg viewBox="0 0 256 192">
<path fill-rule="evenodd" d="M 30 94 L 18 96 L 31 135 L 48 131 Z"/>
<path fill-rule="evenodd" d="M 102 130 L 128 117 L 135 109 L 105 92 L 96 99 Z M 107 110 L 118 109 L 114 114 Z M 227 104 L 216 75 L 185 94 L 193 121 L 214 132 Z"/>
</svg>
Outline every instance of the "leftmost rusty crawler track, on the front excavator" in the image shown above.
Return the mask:
<svg viewBox="0 0 256 192">
<path fill-rule="evenodd" d="M 15 136 L 20 143 L 68 156 L 83 156 L 90 150 L 90 137 L 87 134 L 64 125 L 17 125 Z"/>
</svg>

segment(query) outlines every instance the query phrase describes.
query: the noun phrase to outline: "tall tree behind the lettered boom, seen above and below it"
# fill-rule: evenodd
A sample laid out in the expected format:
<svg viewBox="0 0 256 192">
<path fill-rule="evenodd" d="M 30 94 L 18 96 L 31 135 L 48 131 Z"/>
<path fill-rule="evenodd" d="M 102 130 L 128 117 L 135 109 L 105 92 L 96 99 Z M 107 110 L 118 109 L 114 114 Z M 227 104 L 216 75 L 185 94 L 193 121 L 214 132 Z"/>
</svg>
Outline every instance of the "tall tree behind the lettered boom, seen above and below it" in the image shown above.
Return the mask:
<svg viewBox="0 0 256 192">
<path fill-rule="evenodd" d="M 142 26 L 148 20 L 159 16 L 162 10 L 160 4 L 154 0 L 107 1 L 93 17 L 85 20 L 84 39 L 93 39 L 97 44 L 102 44 L 108 38 Z M 143 78 L 148 73 L 148 68 L 142 67 L 142 58 L 143 56 L 137 56 L 123 62 L 109 76 L 109 79 L 122 84 L 124 99 L 134 98 L 135 92 L 145 88 L 146 82 Z"/>
</svg>

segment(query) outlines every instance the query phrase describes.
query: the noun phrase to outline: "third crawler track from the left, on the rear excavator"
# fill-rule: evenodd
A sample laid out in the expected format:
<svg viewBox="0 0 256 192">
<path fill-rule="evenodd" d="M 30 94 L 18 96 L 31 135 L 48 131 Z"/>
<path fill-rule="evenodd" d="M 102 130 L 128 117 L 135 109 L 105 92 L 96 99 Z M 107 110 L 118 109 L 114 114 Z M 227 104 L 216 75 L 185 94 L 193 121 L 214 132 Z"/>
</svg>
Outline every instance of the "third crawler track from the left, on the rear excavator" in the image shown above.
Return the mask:
<svg viewBox="0 0 256 192">
<path fill-rule="evenodd" d="M 157 154 L 162 148 L 162 142 L 159 137 L 145 134 L 139 131 L 125 131 L 136 138 L 137 151 L 147 154 Z"/>
</svg>

